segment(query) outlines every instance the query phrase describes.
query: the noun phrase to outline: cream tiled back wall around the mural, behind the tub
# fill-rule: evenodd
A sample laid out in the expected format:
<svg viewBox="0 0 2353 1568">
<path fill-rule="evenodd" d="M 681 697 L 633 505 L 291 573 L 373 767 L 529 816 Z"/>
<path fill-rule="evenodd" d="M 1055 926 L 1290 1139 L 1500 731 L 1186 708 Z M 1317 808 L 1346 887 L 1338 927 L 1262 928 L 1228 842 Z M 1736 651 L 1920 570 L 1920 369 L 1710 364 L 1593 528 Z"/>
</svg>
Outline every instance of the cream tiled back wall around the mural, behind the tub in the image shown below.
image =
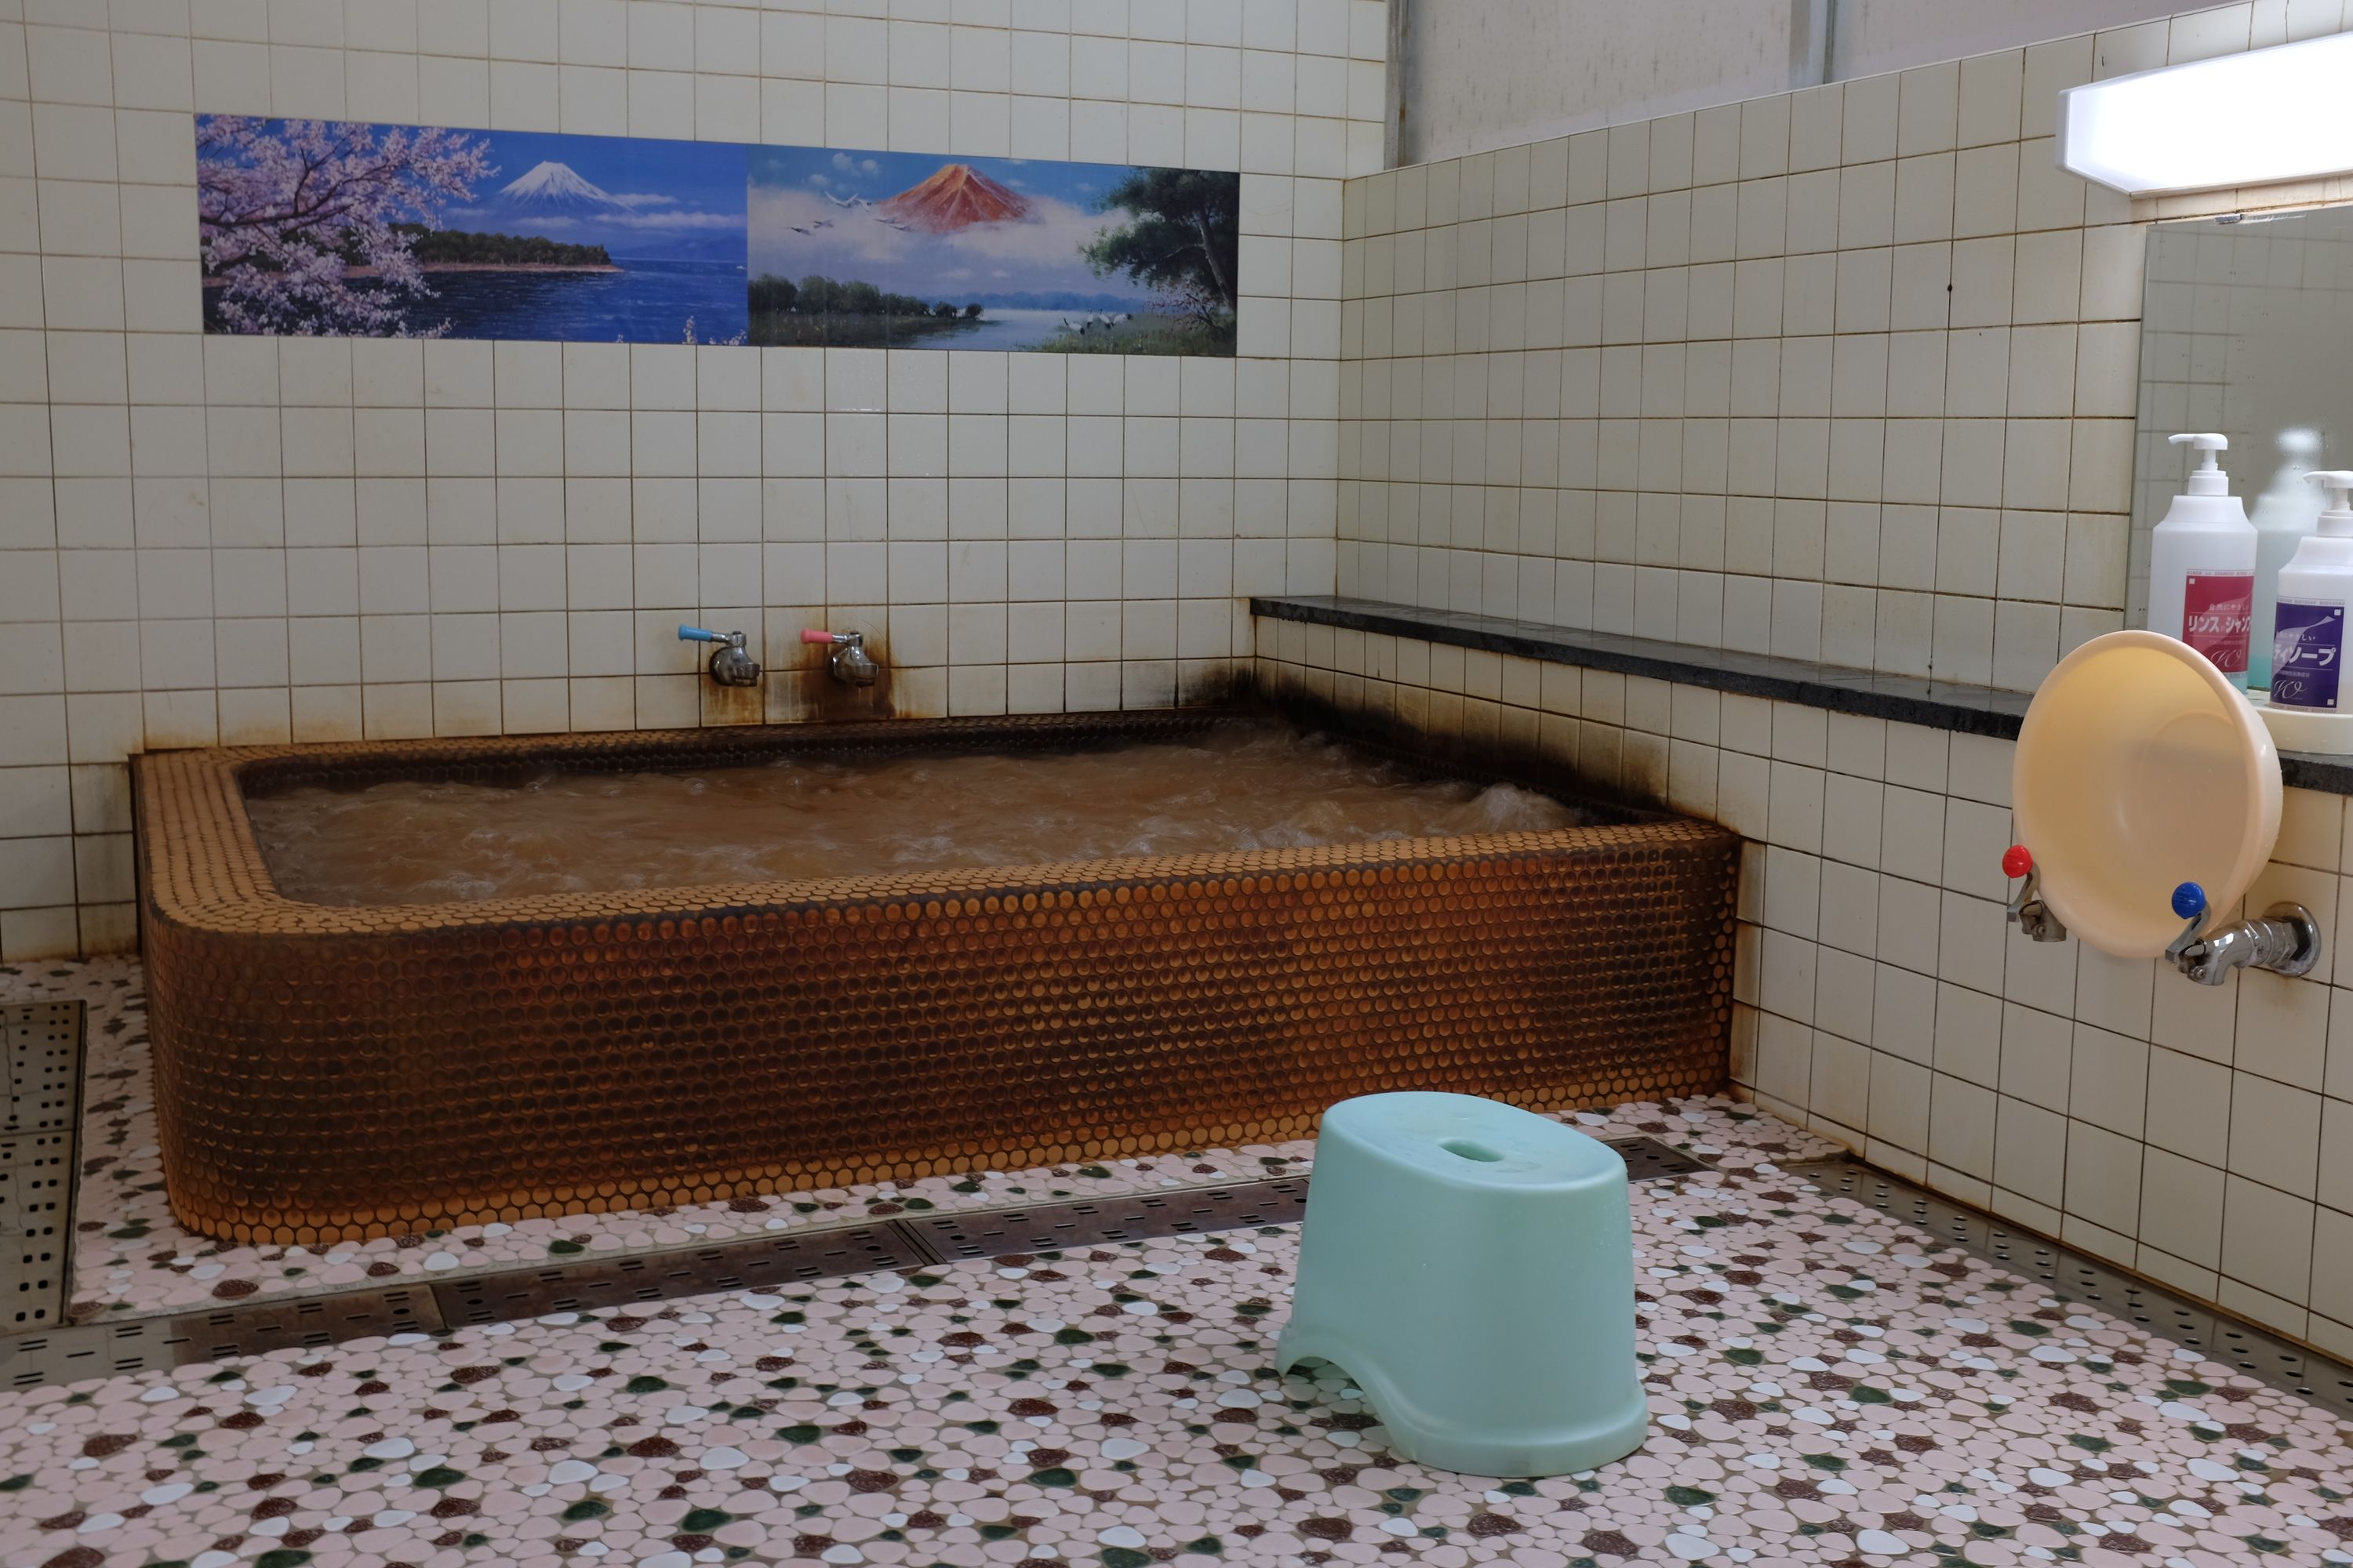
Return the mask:
<svg viewBox="0 0 2353 1568">
<path fill-rule="evenodd" d="M 1332 588 L 1384 42 L 1379 0 L 0 0 L 0 959 L 132 940 L 139 748 L 694 724 L 680 621 L 786 668 L 864 628 L 901 712 L 1214 679 L 1238 595 Z M 1240 169 L 1242 357 L 205 339 L 191 110 Z"/>
</svg>

